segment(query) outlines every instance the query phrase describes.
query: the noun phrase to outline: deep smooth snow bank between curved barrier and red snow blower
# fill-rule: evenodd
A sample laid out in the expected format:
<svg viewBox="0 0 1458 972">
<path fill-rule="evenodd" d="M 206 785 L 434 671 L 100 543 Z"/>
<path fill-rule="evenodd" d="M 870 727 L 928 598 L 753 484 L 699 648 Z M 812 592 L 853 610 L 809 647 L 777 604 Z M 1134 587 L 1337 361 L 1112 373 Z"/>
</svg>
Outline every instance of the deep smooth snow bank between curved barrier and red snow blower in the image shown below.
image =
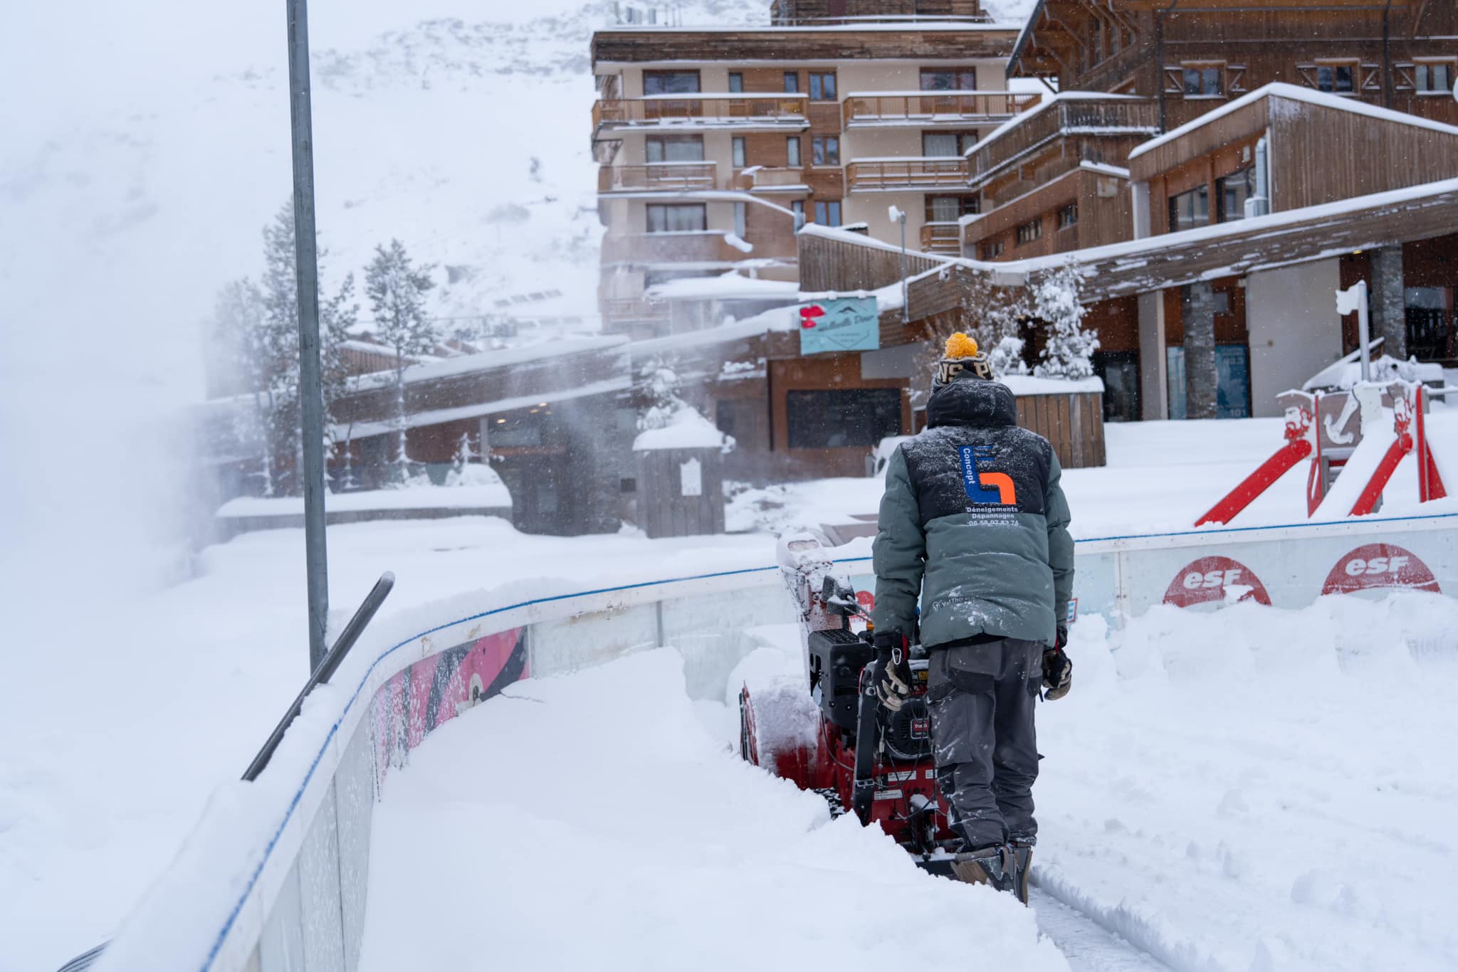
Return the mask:
<svg viewBox="0 0 1458 972">
<path fill-rule="evenodd" d="M 372 844 L 360 972 L 885 969 L 908 921 L 987 968 L 1067 968 L 1012 898 L 927 877 L 739 759 L 672 650 L 521 682 L 439 729 L 386 781 Z"/>
</svg>

